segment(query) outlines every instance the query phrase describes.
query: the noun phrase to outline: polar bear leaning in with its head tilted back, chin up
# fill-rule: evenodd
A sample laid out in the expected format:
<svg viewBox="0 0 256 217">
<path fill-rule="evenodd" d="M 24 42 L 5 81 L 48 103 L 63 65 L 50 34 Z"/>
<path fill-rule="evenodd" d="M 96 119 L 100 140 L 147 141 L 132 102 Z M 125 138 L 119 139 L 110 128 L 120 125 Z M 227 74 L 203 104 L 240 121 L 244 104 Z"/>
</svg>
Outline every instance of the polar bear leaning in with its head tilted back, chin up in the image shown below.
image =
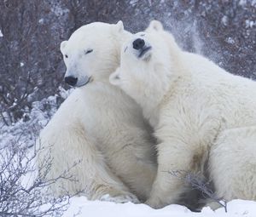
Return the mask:
<svg viewBox="0 0 256 217">
<path fill-rule="evenodd" d="M 256 83 L 179 49 L 153 21 L 121 50 L 110 82 L 143 107 L 159 141 L 147 203 L 176 203 L 184 183 L 167 172 L 208 173 L 218 197 L 256 200 Z"/>
</svg>

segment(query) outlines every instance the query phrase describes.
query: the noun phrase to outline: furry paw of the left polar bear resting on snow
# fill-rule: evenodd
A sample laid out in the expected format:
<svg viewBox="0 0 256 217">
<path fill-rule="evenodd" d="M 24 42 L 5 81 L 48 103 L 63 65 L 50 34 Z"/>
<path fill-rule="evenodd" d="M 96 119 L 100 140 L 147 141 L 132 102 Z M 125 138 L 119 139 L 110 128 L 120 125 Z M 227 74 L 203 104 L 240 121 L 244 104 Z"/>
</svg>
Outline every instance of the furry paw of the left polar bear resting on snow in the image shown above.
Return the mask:
<svg viewBox="0 0 256 217">
<path fill-rule="evenodd" d="M 137 197 L 131 193 L 129 194 L 120 194 L 116 196 L 110 196 L 109 194 L 105 194 L 100 198 L 101 201 L 108 201 L 113 203 L 139 203 Z"/>
</svg>

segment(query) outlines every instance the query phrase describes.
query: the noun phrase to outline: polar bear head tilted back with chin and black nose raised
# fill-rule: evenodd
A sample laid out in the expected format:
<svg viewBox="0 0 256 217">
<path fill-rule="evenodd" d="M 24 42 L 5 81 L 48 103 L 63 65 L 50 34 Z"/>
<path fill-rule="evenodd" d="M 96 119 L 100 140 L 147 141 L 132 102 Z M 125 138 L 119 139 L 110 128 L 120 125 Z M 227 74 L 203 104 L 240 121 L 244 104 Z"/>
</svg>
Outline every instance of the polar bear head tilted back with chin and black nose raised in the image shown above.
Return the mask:
<svg viewBox="0 0 256 217">
<path fill-rule="evenodd" d="M 172 34 L 158 21 L 130 37 L 121 50 L 120 67 L 109 77 L 138 104 L 150 106 L 161 100 L 177 77 L 177 47 Z"/>
</svg>

